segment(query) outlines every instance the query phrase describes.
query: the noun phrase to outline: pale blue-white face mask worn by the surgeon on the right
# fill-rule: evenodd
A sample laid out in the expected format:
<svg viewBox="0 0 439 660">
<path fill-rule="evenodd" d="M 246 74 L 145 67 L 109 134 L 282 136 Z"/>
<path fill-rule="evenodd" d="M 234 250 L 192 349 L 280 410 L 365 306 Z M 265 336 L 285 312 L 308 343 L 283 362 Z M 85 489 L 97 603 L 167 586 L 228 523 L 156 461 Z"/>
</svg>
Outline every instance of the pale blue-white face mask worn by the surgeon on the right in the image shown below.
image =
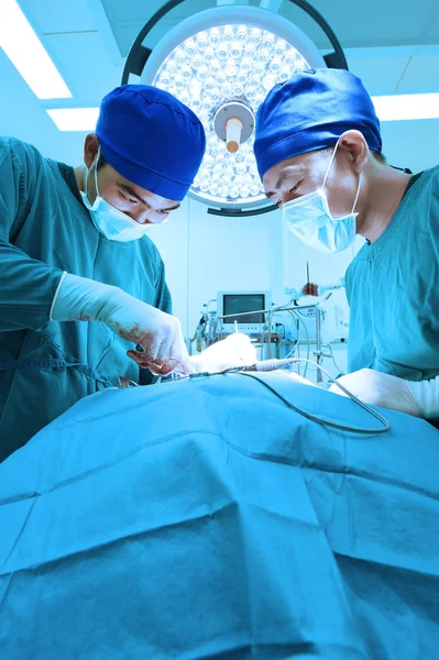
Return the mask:
<svg viewBox="0 0 439 660">
<path fill-rule="evenodd" d="M 360 195 L 362 173 L 359 176 L 359 186 L 349 216 L 343 216 L 343 218 L 337 220 L 332 218 L 328 198 L 323 190 L 337 147 L 338 143 L 333 150 L 321 188 L 298 199 L 292 199 L 283 206 L 284 219 L 288 230 L 310 248 L 325 253 L 345 250 L 353 243 L 356 233 L 358 213 L 354 210 Z"/>
</svg>

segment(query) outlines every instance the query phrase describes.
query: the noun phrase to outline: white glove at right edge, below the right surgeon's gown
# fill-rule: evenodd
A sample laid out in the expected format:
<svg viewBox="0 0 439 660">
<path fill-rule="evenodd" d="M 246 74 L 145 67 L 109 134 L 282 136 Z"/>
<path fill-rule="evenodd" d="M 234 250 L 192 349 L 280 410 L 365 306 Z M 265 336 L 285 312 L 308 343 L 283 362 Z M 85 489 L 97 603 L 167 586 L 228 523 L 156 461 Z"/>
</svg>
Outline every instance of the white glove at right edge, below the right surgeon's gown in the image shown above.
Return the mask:
<svg viewBox="0 0 439 660">
<path fill-rule="evenodd" d="M 372 369 L 362 369 L 338 378 L 337 383 L 343 385 L 345 389 L 364 404 L 420 417 L 420 410 L 410 392 L 408 382 L 403 378 L 383 374 Z M 336 384 L 331 385 L 329 392 L 347 396 Z"/>
</svg>

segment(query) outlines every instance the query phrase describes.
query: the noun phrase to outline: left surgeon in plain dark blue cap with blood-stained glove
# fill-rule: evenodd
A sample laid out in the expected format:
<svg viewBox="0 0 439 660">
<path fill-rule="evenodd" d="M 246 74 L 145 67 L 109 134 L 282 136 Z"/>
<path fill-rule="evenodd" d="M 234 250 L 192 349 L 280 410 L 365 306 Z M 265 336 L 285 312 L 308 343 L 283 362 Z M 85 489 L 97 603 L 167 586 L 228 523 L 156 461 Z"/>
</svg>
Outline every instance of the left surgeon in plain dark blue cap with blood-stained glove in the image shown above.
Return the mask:
<svg viewBox="0 0 439 660">
<path fill-rule="evenodd" d="M 194 112 L 143 85 L 103 99 L 78 167 L 0 139 L 0 460 L 121 378 L 185 371 L 149 232 L 178 208 L 205 146 Z"/>
</svg>

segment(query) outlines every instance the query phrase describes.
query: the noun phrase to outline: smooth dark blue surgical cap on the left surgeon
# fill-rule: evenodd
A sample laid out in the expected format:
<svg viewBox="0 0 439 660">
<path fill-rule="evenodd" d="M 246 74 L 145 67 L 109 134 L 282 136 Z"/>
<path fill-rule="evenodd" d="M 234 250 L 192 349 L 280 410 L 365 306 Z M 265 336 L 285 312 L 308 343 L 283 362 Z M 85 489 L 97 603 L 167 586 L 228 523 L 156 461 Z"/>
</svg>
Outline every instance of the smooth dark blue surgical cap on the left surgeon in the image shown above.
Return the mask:
<svg viewBox="0 0 439 660">
<path fill-rule="evenodd" d="M 199 169 L 206 135 L 198 117 L 167 91 L 123 85 L 108 94 L 96 127 L 101 153 L 141 188 L 180 201 Z"/>
</svg>

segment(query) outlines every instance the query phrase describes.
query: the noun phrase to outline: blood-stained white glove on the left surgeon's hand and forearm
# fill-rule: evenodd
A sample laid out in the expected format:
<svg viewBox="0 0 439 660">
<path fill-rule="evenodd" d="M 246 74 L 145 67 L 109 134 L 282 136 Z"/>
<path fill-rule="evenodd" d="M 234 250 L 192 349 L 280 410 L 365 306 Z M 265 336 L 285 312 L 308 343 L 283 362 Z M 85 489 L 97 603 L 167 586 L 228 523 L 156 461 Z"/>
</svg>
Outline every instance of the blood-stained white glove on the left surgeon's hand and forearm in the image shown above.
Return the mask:
<svg viewBox="0 0 439 660">
<path fill-rule="evenodd" d="M 144 349 L 127 353 L 139 366 L 157 375 L 167 375 L 177 366 L 190 373 L 178 319 L 116 286 L 66 273 L 54 297 L 51 320 L 101 321 Z"/>
</svg>

